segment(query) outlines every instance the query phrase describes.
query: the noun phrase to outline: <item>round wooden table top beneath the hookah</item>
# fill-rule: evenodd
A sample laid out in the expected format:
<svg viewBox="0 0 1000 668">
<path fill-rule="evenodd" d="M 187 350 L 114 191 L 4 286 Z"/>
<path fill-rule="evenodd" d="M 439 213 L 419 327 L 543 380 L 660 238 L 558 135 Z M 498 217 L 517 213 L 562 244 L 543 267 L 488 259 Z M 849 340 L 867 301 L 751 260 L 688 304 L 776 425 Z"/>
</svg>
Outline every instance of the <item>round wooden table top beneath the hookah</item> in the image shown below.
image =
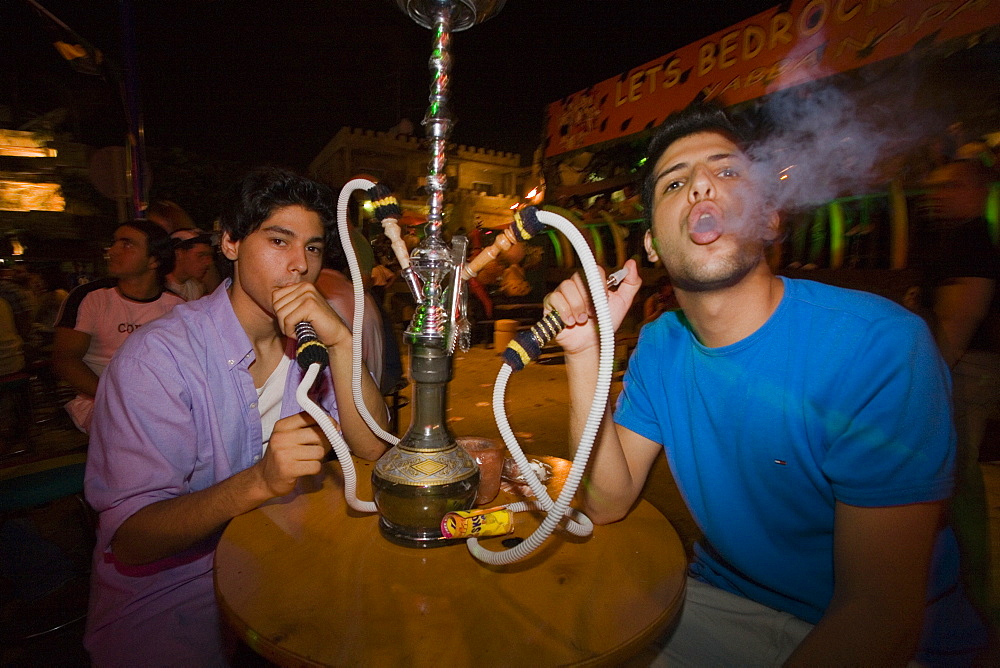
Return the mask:
<svg viewBox="0 0 1000 668">
<path fill-rule="evenodd" d="M 373 465 L 355 462 L 358 495 L 370 499 Z M 526 560 L 491 567 L 461 543 L 388 542 L 376 515 L 347 507 L 339 465 L 326 466 L 305 493 L 234 519 L 216 553 L 223 616 L 275 663 L 616 664 L 680 608 L 684 550 L 645 501 L 588 538 L 557 532 Z M 515 535 L 539 521 L 518 513 Z M 500 550 L 500 540 L 481 544 Z"/>
</svg>

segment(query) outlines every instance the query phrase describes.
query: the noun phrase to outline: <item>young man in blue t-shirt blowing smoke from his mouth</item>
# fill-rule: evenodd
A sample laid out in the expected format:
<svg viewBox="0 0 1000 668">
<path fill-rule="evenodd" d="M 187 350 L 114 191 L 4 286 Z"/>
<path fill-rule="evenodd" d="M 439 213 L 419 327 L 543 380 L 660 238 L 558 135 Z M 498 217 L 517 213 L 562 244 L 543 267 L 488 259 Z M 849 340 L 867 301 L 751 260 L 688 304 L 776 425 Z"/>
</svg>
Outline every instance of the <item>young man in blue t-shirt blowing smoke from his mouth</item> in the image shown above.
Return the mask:
<svg viewBox="0 0 1000 668">
<path fill-rule="evenodd" d="M 650 259 L 681 310 L 646 325 L 591 461 L 585 510 L 629 512 L 660 452 L 704 533 L 665 665 L 970 661 L 984 628 L 943 527 L 948 370 L 923 322 L 874 295 L 775 276 L 778 214 L 721 110 L 673 115 L 649 149 Z M 618 326 L 641 281 L 609 293 Z M 567 327 L 571 401 L 597 335 L 579 276 L 546 298 Z M 571 411 L 576 442 L 585 419 Z"/>
</svg>

